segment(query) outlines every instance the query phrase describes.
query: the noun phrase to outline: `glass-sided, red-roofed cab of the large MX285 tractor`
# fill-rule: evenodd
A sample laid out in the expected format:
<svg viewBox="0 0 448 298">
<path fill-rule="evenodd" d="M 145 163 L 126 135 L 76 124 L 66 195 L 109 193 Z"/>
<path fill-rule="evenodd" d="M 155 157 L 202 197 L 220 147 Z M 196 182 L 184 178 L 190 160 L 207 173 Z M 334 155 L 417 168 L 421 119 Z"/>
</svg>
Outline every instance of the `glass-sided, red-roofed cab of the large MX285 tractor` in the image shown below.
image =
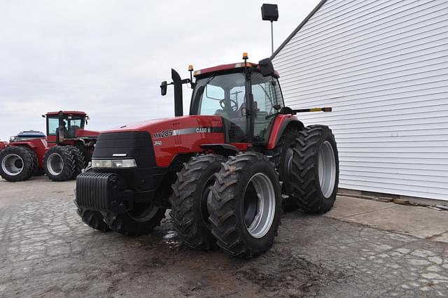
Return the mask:
<svg viewBox="0 0 448 298">
<path fill-rule="evenodd" d="M 263 75 L 247 62 L 202 69 L 194 76 L 190 115 L 221 116 L 228 143 L 267 142 L 274 115 L 284 106 L 278 73 Z"/>
</svg>

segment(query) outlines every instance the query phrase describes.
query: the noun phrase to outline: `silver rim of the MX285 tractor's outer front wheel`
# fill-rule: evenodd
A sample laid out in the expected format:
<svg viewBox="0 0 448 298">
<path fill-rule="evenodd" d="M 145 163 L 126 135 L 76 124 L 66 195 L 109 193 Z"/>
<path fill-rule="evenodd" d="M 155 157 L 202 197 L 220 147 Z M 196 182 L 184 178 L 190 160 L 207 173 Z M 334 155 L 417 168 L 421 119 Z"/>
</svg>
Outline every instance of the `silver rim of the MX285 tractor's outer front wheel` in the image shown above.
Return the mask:
<svg viewBox="0 0 448 298">
<path fill-rule="evenodd" d="M 264 173 L 256 173 L 244 191 L 244 224 L 253 238 L 262 238 L 272 226 L 275 215 L 275 190 Z"/>
</svg>

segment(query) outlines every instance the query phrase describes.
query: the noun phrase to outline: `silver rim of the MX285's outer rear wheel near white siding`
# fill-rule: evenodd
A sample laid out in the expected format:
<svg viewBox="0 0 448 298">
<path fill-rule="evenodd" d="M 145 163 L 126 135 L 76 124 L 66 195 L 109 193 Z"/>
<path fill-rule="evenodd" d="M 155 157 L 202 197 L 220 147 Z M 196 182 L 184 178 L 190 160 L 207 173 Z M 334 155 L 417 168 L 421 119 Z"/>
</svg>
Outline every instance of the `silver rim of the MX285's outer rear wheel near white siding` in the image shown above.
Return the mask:
<svg viewBox="0 0 448 298">
<path fill-rule="evenodd" d="M 335 152 L 329 141 L 324 141 L 319 149 L 318 174 L 323 197 L 329 198 L 335 189 L 336 180 Z"/>
</svg>

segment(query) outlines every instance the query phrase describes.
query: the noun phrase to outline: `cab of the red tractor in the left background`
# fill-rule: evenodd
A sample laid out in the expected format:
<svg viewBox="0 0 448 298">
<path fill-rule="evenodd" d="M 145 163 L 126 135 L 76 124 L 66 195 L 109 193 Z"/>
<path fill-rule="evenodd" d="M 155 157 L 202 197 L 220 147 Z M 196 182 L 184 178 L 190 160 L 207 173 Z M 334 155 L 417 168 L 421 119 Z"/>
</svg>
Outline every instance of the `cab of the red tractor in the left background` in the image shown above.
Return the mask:
<svg viewBox="0 0 448 298">
<path fill-rule="evenodd" d="M 62 143 L 64 140 L 76 139 L 77 130 L 84 130 L 88 115 L 78 111 L 48 112 L 42 117 L 47 119 L 48 143 Z"/>
</svg>

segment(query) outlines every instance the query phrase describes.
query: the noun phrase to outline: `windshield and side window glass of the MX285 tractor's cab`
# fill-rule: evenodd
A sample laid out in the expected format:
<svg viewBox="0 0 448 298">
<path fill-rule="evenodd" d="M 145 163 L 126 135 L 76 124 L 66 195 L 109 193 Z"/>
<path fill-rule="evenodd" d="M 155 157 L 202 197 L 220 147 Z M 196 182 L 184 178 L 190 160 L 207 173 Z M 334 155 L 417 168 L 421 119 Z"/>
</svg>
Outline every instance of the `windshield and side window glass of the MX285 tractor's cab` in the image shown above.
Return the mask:
<svg viewBox="0 0 448 298">
<path fill-rule="evenodd" d="M 269 124 L 274 119 L 269 115 L 277 113 L 283 107 L 283 98 L 276 78 L 263 77 L 261 73 L 254 71 L 251 80 L 253 108 L 255 109 L 253 140 L 264 142 L 267 141 Z M 233 139 L 230 134 L 230 141 L 244 142 L 246 139 L 244 84 L 244 73 L 229 73 L 197 80 L 190 114 L 219 115 L 225 120 L 229 120 L 232 127 L 238 131 L 237 137 Z"/>
</svg>

